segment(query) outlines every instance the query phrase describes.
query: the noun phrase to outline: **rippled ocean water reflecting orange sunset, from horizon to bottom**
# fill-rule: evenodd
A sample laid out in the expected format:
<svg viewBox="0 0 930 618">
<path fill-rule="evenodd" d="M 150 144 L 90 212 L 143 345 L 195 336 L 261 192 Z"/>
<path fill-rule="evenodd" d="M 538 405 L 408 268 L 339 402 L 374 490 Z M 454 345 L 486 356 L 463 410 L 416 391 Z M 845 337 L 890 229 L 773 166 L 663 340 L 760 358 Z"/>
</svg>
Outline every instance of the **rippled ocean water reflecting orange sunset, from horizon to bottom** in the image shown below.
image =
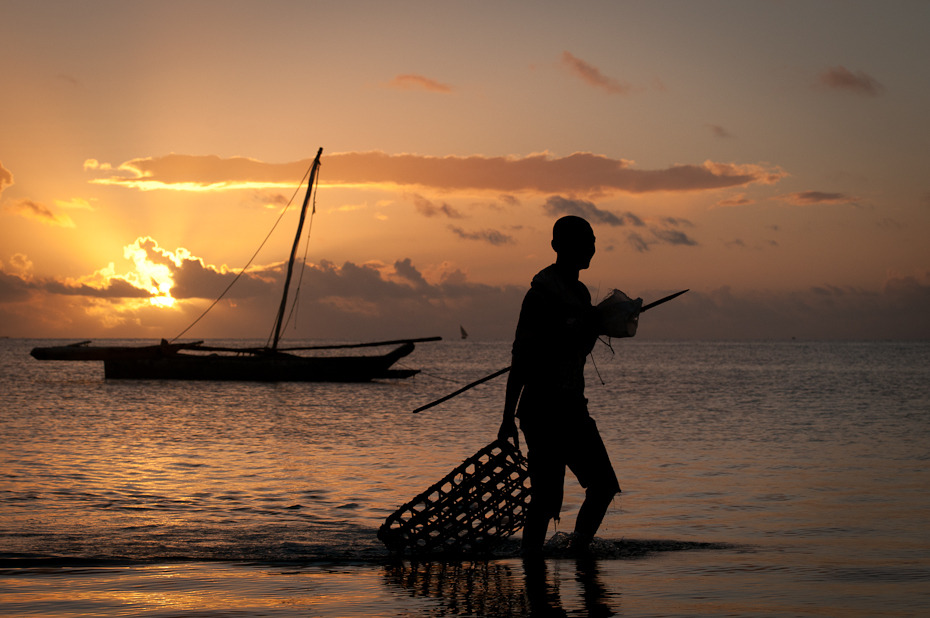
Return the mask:
<svg viewBox="0 0 930 618">
<path fill-rule="evenodd" d="M 54 343 L 0 340 L 3 616 L 930 612 L 930 342 L 598 346 L 623 488 L 598 536 L 641 551 L 541 567 L 516 540 L 413 560 L 376 538 L 495 438 L 505 378 L 411 411 L 509 342 L 420 344 L 423 373 L 372 384 L 106 381 L 28 354 Z M 558 531 L 582 498 L 570 479 Z"/>
</svg>

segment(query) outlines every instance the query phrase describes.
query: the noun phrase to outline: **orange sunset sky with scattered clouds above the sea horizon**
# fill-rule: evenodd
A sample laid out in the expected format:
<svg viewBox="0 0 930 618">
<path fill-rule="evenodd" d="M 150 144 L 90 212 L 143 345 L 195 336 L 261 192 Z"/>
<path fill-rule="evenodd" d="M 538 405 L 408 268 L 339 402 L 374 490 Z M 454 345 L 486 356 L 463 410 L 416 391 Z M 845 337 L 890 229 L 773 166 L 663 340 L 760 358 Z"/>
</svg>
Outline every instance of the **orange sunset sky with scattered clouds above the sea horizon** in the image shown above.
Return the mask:
<svg viewBox="0 0 930 618">
<path fill-rule="evenodd" d="M 509 339 L 565 214 L 637 337 L 930 338 L 930 3 L 0 15 L 0 335 L 267 337 L 323 148 L 291 338 Z"/>
</svg>

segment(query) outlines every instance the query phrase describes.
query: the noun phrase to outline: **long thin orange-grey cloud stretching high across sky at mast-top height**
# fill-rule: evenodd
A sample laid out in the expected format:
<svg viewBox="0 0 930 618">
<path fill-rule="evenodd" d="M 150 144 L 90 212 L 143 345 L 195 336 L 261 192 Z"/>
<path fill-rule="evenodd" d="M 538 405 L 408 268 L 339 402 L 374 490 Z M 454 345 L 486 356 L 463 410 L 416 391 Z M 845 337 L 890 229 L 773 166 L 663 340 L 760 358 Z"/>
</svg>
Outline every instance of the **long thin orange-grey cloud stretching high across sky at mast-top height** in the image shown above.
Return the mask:
<svg viewBox="0 0 930 618">
<path fill-rule="evenodd" d="M 245 157 L 165 155 L 132 159 L 115 169 L 99 162 L 87 169 L 96 184 L 140 190 L 214 191 L 243 188 L 293 189 L 310 160 L 263 163 Z M 625 159 L 592 153 L 566 157 L 428 157 L 383 152 L 347 152 L 323 157 L 321 185 L 421 186 L 440 190 L 493 191 L 516 194 L 594 194 L 622 191 L 704 191 L 749 184 L 773 184 L 785 176 L 779 168 L 753 164 L 674 165 L 639 170 Z"/>
</svg>

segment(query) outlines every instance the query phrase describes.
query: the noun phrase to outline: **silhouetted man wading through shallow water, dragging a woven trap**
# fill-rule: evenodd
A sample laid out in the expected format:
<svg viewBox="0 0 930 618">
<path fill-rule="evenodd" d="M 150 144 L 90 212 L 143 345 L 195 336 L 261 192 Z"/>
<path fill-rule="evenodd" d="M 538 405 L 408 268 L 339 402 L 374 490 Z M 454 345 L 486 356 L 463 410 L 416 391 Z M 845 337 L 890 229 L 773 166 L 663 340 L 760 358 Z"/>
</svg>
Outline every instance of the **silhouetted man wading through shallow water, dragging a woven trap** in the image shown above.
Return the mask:
<svg viewBox="0 0 930 618">
<path fill-rule="evenodd" d="M 531 483 L 526 556 L 542 552 L 549 520 L 559 518 L 566 466 L 586 490 L 575 522 L 575 551 L 587 548 L 620 492 L 584 396 L 585 358 L 597 341 L 599 320 L 578 274 L 594 257 L 594 231 L 581 217 L 562 217 L 552 228 L 552 248 L 555 264 L 533 278 L 523 299 L 498 432 L 516 441 L 514 417 L 520 417 Z"/>
</svg>

